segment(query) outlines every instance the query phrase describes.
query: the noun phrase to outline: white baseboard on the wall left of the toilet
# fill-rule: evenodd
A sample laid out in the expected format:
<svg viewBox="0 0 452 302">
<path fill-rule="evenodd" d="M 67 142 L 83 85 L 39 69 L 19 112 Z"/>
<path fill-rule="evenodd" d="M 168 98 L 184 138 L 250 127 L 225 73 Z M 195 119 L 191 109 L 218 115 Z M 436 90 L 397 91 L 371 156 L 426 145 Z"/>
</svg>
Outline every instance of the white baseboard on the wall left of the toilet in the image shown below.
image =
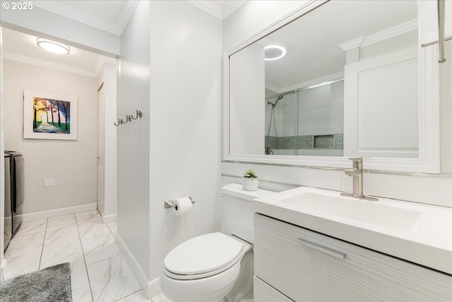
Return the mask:
<svg viewBox="0 0 452 302">
<path fill-rule="evenodd" d="M 132 269 L 133 274 L 138 280 L 138 283 L 143 289 L 146 297 L 150 299 L 151 297 L 160 294 L 162 292 L 162 289 L 160 289 L 160 278 L 149 280 L 148 277 L 146 277 L 145 272 L 143 272 L 143 269 L 138 264 L 138 261 L 136 261 L 129 248 L 127 248 L 126 243 L 124 243 L 124 240 L 122 240 L 119 233 L 116 234 L 116 242 L 122 252 L 122 255 L 124 255 L 124 258 L 126 258 L 127 263 Z"/>
</svg>

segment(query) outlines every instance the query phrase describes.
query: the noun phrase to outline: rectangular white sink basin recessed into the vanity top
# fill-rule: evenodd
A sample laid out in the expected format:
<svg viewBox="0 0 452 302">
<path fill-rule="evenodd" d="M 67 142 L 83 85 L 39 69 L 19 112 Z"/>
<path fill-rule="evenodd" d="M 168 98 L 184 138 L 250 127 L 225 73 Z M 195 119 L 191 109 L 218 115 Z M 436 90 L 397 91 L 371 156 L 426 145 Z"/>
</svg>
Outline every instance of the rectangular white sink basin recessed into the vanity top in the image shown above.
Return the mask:
<svg viewBox="0 0 452 302">
<path fill-rule="evenodd" d="M 302 207 L 306 211 L 313 211 L 320 215 L 332 215 L 400 231 L 412 230 L 421 216 L 421 211 L 395 207 L 379 201 L 344 197 L 340 194 L 302 192 L 299 195 L 281 199 L 280 202 Z"/>
</svg>

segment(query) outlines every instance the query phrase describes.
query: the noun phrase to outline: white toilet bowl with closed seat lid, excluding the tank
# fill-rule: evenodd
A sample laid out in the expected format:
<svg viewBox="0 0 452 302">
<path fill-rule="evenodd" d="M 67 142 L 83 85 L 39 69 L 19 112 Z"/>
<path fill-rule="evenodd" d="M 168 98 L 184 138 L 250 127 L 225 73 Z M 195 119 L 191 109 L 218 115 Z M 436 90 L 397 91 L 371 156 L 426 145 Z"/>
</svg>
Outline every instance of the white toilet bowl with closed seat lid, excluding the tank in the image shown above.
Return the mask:
<svg viewBox="0 0 452 302">
<path fill-rule="evenodd" d="M 246 274 L 242 259 L 251 249 L 249 243 L 223 233 L 191 238 L 165 257 L 162 291 L 172 301 L 222 301 L 239 274 Z"/>
</svg>

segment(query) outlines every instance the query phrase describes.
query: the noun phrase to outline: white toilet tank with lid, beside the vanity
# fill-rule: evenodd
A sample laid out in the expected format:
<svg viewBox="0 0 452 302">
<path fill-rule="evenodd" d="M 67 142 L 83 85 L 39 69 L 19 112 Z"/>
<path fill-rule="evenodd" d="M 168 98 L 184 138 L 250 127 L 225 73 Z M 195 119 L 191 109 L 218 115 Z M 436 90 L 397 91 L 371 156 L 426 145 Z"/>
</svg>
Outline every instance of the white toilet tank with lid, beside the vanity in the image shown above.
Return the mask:
<svg viewBox="0 0 452 302">
<path fill-rule="evenodd" d="M 275 192 L 258 189 L 245 191 L 242 185 L 231 183 L 221 189 L 222 233 L 232 234 L 254 243 L 254 219 L 251 201 Z"/>
</svg>

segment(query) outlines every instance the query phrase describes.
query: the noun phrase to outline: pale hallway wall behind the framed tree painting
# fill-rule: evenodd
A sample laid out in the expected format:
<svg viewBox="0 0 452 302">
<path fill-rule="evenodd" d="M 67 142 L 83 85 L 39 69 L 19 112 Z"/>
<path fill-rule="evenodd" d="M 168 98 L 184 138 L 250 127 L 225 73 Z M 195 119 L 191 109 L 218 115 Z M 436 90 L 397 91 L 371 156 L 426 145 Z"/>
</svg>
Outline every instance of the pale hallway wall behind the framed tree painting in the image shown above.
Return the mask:
<svg viewBox="0 0 452 302">
<path fill-rule="evenodd" d="M 25 158 L 23 213 L 96 202 L 97 83 L 95 78 L 30 64 L 3 61 L 4 148 Z M 23 91 L 78 98 L 78 140 L 23 139 Z M 54 187 L 44 187 L 54 178 Z"/>
</svg>

